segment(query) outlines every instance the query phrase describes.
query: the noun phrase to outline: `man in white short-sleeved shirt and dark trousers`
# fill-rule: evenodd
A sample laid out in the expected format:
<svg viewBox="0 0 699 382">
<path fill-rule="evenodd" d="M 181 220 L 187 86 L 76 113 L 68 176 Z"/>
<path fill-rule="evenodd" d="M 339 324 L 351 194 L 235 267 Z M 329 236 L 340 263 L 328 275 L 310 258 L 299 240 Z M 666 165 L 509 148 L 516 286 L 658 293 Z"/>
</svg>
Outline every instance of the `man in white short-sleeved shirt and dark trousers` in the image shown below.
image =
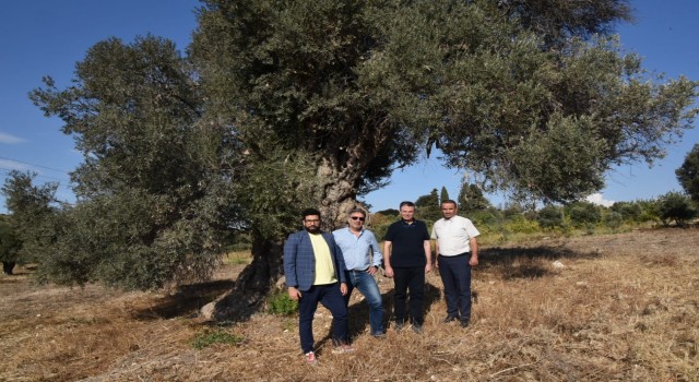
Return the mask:
<svg viewBox="0 0 699 382">
<path fill-rule="evenodd" d="M 457 215 L 457 202 L 441 202 L 442 218 L 433 226 L 439 275 L 445 285 L 447 318 L 443 322 L 460 320 L 461 326 L 471 321 L 471 267 L 478 265 L 478 242 L 481 235 L 473 223 Z"/>
</svg>

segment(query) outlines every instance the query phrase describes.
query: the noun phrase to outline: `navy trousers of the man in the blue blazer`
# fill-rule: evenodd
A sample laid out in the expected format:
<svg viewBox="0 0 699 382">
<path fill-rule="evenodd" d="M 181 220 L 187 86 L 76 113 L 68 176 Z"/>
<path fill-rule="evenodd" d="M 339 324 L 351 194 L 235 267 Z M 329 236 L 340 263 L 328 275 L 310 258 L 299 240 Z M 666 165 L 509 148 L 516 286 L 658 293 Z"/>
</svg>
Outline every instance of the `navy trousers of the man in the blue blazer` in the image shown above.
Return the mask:
<svg viewBox="0 0 699 382">
<path fill-rule="evenodd" d="M 347 307 L 340 291 L 340 283 L 313 285 L 308 290 L 301 290 L 298 301 L 298 335 L 304 354 L 313 351 L 313 315 L 318 302 L 332 314 L 333 343 L 347 344 Z"/>
</svg>

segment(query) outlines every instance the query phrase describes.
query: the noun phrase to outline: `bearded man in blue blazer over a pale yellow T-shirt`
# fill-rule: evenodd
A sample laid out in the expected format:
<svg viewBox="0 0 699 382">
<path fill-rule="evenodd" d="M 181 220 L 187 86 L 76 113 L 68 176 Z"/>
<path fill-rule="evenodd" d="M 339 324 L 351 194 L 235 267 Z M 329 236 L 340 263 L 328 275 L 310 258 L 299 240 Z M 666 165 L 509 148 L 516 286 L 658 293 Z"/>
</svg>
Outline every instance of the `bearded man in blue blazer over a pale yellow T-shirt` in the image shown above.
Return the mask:
<svg viewBox="0 0 699 382">
<path fill-rule="evenodd" d="M 288 297 L 298 301 L 298 334 L 308 363 L 316 363 L 313 315 L 318 302 L 332 314 L 333 353 L 354 351 L 347 335 L 347 294 L 344 259 L 332 234 L 320 230 L 320 212 L 301 213 L 304 230 L 288 236 L 284 243 L 284 273 Z"/>
</svg>

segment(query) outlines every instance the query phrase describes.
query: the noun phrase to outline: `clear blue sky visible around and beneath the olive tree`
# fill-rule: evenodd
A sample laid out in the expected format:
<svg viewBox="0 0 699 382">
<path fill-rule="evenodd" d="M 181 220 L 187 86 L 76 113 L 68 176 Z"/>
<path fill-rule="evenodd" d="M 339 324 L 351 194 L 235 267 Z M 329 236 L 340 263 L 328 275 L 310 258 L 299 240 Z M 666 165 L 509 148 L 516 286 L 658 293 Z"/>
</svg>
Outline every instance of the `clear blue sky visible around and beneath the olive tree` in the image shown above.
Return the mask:
<svg viewBox="0 0 699 382">
<path fill-rule="evenodd" d="M 73 139 L 60 132 L 61 121 L 46 118 L 28 99 L 42 86 L 42 76 L 52 76 L 59 88 L 70 85 L 75 62 L 95 43 L 119 37 L 130 43 L 152 34 L 173 39 L 180 50 L 196 27 L 196 0 L 23 0 L 3 3 L 0 13 L 0 182 L 11 169 L 32 170 L 37 181 L 58 181 L 58 198 L 72 201 L 68 172 L 82 160 Z M 680 74 L 699 80 L 699 1 L 631 0 L 636 23 L 619 25 L 626 51 L 643 57 L 643 67 L 675 79 Z M 695 123 L 696 126 L 697 123 Z M 607 175 L 606 188 L 595 195 L 602 202 L 652 199 L 680 191 L 677 169 L 699 130 L 686 132 L 680 143 L 652 168 L 644 163 L 623 166 Z M 436 158 L 395 171 L 391 183 L 366 196 L 374 211 L 395 208 L 403 200 L 415 200 L 434 188 L 459 192 L 463 174 L 445 169 Z M 503 202 L 491 195 L 491 202 Z M 0 213 L 7 213 L 0 195 Z"/>
</svg>

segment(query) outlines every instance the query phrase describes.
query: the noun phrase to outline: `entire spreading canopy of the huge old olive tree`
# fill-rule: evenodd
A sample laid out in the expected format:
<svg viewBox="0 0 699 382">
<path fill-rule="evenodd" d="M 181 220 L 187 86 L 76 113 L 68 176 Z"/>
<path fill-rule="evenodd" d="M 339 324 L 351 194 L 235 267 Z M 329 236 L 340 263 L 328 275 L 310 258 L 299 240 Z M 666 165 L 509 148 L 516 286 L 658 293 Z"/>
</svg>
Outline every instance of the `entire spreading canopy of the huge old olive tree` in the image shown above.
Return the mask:
<svg viewBox="0 0 699 382">
<path fill-rule="evenodd" d="M 435 147 L 486 188 L 589 194 L 611 166 L 662 157 L 697 112 L 696 82 L 649 77 L 607 35 L 629 17 L 624 0 L 204 0 L 185 56 L 152 36 L 98 43 L 72 86 L 32 95 L 85 155 L 73 222 L 104 223 L 80 229 L 104 243 L 63 253 L 157 287 L 206 274 L 245 228 L 239 284 L 264 291 L 298 210 L 333 228 Z"/>
</svg>

